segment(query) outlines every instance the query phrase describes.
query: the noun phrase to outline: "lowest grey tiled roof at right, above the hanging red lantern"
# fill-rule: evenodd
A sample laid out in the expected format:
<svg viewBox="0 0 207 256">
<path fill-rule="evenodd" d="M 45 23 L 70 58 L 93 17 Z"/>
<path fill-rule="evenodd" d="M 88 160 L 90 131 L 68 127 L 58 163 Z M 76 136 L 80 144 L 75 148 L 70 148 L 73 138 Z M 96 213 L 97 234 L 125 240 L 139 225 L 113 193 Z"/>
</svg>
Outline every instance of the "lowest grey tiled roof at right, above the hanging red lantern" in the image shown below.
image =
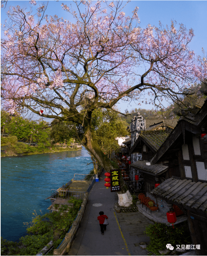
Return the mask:
<svg viewBox="0 0 207 256">
<path fill-rule="evenodd" d="M 152 165 L 153 166 L 153 165 Z M 151 191 L 168 200 L 206 212 L 207 183 L 170 178 Z"/>
</svg>

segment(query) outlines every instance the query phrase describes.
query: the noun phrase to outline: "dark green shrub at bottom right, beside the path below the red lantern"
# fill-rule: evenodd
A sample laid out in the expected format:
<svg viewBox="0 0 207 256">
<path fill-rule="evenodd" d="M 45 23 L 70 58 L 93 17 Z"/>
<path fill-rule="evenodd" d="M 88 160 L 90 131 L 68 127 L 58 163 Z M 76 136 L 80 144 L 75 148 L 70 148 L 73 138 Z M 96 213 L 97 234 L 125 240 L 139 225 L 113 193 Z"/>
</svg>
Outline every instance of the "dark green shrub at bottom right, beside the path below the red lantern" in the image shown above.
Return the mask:
<svg viewBox="0 0 207 256">
<path fill-rule="evenodd" d="M 146 227 L 144 233 L 150 237 L 150 244 L 147 246 L 147 250 L 156 255 L 161 255 L 159 250 L 166 249 L 166 244 L 168 243 L 174 247 L 176 244 L 191 244 L 187 221 L 181 227 L 175 225 L 174 229 L 164 223 L 150 224 Z"/>
</svg>

